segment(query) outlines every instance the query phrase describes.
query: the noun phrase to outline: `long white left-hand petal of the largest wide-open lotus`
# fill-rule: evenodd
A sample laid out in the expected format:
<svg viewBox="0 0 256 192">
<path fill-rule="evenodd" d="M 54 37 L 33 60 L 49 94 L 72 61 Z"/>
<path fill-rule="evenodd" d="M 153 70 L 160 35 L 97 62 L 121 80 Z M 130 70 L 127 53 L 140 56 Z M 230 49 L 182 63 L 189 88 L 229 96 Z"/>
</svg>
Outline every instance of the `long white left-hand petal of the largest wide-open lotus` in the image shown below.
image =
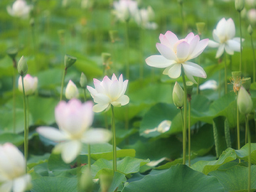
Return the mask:
<svg viewBox="0 0 256 192">
<path fill-rule="evenodd" d="M 176 61 L 168 60 L 162 55 L 151 55 L 149 58 L 146 58 L 146 64 L 154 68 L 167 68 L 173 63 L 176 63 Z"/>
</svg>

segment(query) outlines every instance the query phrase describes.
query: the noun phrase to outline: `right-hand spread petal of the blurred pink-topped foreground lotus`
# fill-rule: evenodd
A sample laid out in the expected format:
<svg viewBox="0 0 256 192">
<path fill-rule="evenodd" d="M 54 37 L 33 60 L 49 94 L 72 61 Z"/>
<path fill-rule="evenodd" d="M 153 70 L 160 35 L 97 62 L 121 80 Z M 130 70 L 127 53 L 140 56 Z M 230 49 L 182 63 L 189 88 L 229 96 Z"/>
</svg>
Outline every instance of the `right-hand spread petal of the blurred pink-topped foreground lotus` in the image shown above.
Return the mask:
<svg viewBox="0 0 256 192">
<path fill-rule="evenodd" d="M 82 137 L 85 144 L 99 144 L 109 142 L 112 135 L 107 129 L 90 129 Z"/>
</svg>

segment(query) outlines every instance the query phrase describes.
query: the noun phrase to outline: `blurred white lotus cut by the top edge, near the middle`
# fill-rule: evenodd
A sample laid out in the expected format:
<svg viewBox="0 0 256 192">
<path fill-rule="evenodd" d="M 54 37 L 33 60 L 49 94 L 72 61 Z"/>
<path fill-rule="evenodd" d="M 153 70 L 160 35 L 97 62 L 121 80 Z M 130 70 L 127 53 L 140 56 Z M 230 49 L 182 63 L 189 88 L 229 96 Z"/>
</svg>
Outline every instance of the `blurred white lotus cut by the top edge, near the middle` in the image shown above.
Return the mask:
<svg viewBox="0 0 256 192">
<path fill-rule="evenodd" d="M 132 0 L 119 0 L 113 3 L 114 10 L 113 14 L 119 21 L 129 21 L 130 18 L 134 17 L 138 11 L 137 1 Z"/>
</svg>

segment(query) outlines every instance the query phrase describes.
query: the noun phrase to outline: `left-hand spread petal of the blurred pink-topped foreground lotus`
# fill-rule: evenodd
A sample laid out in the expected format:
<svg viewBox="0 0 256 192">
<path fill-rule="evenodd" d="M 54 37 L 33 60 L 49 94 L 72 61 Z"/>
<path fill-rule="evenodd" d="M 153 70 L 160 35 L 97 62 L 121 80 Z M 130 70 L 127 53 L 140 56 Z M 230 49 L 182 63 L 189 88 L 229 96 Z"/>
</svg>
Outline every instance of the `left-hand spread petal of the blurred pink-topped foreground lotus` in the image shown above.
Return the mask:
<svg viewBox="0 0 256 192">
<path fill-rule="evenodd" d="M 68 135 L 60 132 L 59 129 L 54 127 L 38 127 L 36 132 L 41 134 L 43 137 L 47 139 L 53 140 L 54 142 L 63 142 L 67 139 Z"/>
</svg>

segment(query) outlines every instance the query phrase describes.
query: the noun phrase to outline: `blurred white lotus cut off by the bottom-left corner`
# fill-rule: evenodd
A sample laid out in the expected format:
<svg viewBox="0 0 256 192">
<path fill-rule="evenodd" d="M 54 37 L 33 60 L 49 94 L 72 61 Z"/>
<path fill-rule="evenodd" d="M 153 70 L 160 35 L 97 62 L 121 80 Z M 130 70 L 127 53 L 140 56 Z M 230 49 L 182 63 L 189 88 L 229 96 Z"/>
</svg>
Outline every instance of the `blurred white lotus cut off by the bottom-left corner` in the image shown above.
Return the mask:
<svg viewBox="0 0 256 192">
<path fill-rule="evenodd" d="M 0 145 L 0 191 L 23 192 L 31 186 L 31 176 L 26 174 L 26 161 L 11 143 Z"/>
</svg>

